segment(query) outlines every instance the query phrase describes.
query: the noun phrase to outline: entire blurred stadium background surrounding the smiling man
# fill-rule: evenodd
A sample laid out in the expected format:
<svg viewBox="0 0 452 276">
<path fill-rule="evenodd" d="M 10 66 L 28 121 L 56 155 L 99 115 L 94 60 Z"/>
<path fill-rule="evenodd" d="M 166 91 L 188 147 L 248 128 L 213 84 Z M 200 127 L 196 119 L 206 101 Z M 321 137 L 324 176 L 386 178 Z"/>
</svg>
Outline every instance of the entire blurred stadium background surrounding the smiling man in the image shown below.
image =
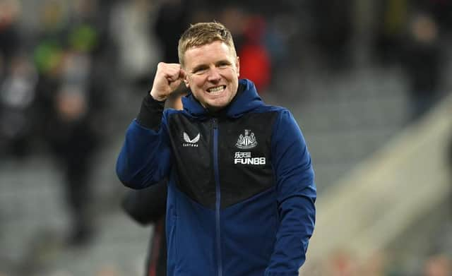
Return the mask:
<svg viewBox="0 0 452 276">
<path fill-rule="evenodd" d="M 300 275 L 450 276 L 452 1 L 0 0 L 0 275 L 143 275 L 114 164 L 189 23 L 234 35 L 319 192 Z"/>
</svg>

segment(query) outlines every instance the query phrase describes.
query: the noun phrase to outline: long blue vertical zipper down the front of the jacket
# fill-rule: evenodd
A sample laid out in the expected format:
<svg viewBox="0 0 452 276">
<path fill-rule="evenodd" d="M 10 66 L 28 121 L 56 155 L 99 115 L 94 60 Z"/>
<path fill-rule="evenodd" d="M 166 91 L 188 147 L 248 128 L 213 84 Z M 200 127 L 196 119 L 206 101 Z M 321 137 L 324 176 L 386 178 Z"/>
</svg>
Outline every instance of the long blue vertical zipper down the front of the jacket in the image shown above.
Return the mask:
<svg viewBox="0 0 452 276">
<path fill-rule="evenodd" d="M 220 244 L 220 206 L 221 206 L 221 190 L 220 190 L 220 173 L 218 172 L 218 121 L 213 118 L 213 171 L 215 174 L 215 229 L 217 239 L 217 265 L 218 276 L 222 276 L 222 256 Z"/>
</svg>

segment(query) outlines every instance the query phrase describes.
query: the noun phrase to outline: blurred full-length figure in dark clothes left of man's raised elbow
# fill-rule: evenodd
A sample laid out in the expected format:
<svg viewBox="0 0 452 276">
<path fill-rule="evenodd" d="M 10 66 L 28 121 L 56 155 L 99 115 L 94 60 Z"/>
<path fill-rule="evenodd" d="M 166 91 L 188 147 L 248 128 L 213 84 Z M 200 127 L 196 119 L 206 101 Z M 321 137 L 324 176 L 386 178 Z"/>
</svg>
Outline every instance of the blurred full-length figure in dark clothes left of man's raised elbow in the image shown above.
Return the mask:
<svg viewBox="0 0 452 276">
<path fill-rule="evenodd" d="M 75 59 L 82 59 L 76 61 Z M 78 64 L 80 67 L 72 68 L 72 62 L 85 62 L 83 56 L 66 56 L 64 61 L 64 75 L 74 70 L 75 74 L 86 73 L 86 64 Z M 69 73 L 71 74 L 71 73 Z M 91 198 L 92 188 L 89 183 L 89 175 L 93 160 L 93 153 L 97 148 L 97 136 L 90 124 L 90 95 L 85 83 L 76 80 L 71 83 L 68 78 L 83 78 L 83 76 L 67 76 L 61 87 L 55 91 L 52 97 L 52 114 L 46 126 L 47 141 L 50 143 L 58 165 L 63 169 L 65 179 L 64 187 L 66 202 L 69 203 L 71 212 L 71 244 L 83 244 L 88 241 L 93 232 L 90 218 L 90 208 L 93 202 Z M 80 81 L 80 82 L 79 82 Z"/>
</svg>

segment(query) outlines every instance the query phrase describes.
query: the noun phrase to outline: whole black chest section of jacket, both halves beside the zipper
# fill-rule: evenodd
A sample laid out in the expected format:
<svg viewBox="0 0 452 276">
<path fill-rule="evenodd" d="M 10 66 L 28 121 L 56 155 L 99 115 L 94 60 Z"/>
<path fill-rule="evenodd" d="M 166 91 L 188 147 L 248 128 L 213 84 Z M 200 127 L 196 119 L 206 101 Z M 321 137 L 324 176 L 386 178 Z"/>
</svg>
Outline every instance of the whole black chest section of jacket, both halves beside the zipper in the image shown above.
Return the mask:
<svg viewBox="0 0 452 276">
<path fill-rule="evenodd" d="M 239 203 L 274 185 L 270 143 L 276 113 L 218 119 L 218 172 L 221 208 Z M 177 187 L 191 199 L 215 208 L 213 119 L 172 116 L 169 137 Z"/>
</svg>

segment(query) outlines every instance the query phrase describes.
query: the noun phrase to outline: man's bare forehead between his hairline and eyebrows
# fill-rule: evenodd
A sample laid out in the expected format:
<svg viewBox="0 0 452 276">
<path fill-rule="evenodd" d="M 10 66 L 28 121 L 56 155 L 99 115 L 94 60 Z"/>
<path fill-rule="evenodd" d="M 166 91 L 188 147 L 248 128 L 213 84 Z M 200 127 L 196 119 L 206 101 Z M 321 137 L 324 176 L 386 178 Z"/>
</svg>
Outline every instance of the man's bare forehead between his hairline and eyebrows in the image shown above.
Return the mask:
<svg viewBox="0 0 452 276">
<path fill-rule="evenodd" d="M 234 53 L 225 42 L 215 41 L 187 49 L 184 54 L 184 61 L 186 67 L 190 68 L 199 64 L 209 64 L 224 59 L 232 61 L 234 57 Z"/>
</svg>

